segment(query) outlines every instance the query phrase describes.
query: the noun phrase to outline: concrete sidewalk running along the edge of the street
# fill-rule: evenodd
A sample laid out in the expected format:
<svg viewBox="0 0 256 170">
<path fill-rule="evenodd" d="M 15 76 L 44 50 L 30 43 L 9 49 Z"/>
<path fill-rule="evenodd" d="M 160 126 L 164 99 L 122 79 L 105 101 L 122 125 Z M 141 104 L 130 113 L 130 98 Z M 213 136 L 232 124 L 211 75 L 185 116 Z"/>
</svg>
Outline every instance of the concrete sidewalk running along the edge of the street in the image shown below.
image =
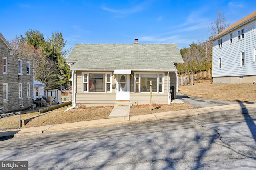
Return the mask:
<svg viewBox="0 0 256 170">
<path fill-rule="evenodd" d="M 81 121 L 74 123 L 63 123 L 56 125 L 47 125 L 40 127 L 30 127 L 30 128 L 21 128 L 21 129 L 13 129 L 7 131 L 0 131 L 0 138 L 4 137 L 19 137 L 24 135 L 36 135 L 40 133 L 50 133 L 50 132 L 58 132 L 58 131 L 68 131 L 68 130 L 76 130 L 76 129 L 85 129 L 85 128 L 93 128 L 93 127 L 104 127 L 104 126 L 112 126 L 112 125 L 122 125 L 122 124 L 130 124 L 130 123 L 142 123 L 147 121 L 157 121 L 162 119 L 173 119 L 178 117 L 188 117 L 199 115 L 203 113 L 217 112 L 217 111 L 226 111 L 233 109 L 243 109 L 243 108 L 251 108 L 256 107 L 256 103 L 237 103 L 223 106 L 214 106 L 214 107 L 204 107 L 199 109 L 187 109 L 187 110 L 178 110 L 178 111 L 168 111 L 162 113 L 152 113 L 148 115 L 139 115 L 139 116 L 125 116 L 125 117 L 115 117 L 109 119 L 100 119 L 100 120 L 92 120 L 92 121 Z"/>
</svg>

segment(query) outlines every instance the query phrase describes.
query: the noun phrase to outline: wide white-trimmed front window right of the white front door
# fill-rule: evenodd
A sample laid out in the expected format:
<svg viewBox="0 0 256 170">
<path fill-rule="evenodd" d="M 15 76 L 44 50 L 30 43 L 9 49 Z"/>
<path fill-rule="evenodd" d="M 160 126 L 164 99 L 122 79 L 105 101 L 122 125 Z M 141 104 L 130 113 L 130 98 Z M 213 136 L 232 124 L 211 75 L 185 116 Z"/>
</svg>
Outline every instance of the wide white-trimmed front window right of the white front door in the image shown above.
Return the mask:
<svg viewBox="0 0 256 170">
<path fill-rule="evenodd" d="M 150 92 L 150 81 L 153 93 L 164 93 L 164 73 L 135 73 L 134 92 Z"/>
</svg>

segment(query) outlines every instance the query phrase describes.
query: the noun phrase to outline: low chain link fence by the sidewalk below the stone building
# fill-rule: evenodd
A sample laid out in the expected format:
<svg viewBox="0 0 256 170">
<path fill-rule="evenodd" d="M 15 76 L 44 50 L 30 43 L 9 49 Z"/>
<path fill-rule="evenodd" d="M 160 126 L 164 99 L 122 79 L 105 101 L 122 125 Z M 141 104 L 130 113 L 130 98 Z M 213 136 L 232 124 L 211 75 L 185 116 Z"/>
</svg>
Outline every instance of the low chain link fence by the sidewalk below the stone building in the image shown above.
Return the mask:
<svg viewBox="0 0 256 170">
<path fill-rule="evenodd" d="M 21 127 L 20 111 L 0 114 L 0 130 L 17 129 Z"/>
</svg>

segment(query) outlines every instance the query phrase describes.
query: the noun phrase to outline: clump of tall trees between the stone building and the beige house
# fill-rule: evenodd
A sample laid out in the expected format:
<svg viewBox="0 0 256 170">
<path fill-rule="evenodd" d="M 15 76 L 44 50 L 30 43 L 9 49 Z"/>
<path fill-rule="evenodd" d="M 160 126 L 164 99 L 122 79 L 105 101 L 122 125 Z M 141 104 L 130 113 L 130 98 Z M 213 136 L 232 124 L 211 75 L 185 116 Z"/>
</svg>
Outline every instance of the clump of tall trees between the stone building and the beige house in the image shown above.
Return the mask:
<svg viewBox="0 0 256 170">
<path fill-rule="evenodd" d="M 52 33 L 52 37 L 45 41 L 42 33 L 29 30 L 25 36 L 16 36 L 10 45 L 18 55 L 34 59 L 34 79 L 44 82 L 46 89 L 67 84 L 70 68 L 66 64 L 66 55 L 71 49 L 63 50 L 66 41 L 62 33 Z"/>
</svg>

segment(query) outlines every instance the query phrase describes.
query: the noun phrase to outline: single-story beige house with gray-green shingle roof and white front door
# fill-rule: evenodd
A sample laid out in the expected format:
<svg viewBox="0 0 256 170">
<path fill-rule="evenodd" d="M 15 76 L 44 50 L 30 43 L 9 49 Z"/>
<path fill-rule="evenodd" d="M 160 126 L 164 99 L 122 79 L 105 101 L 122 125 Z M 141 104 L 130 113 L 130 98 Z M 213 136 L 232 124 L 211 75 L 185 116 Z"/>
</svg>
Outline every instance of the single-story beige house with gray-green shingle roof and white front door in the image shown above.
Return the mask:
<svg viewBox="0 0 256 170">
<path fill-rule="evenodd" d="M 76 44 L 66 62 L 71 66 L 73 108 L 113 106 L 115 102 L 170 104 L 177 91 L 176 44 Z M 151 82 L 151 84 L 150 84 Z"/>
</svg>

